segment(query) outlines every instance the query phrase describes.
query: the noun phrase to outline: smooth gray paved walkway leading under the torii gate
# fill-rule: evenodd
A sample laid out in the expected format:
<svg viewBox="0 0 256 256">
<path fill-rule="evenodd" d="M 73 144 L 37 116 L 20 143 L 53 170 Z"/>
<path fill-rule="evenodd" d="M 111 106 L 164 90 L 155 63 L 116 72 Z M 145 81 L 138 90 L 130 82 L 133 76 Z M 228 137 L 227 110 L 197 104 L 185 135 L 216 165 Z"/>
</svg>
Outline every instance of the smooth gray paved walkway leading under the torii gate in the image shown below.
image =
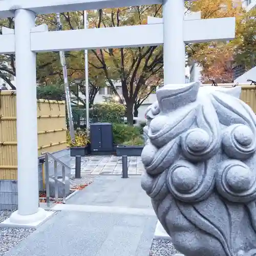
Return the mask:
<svg viewBox="0 0 256 256">
<path fill-rule="evenodd" d="M 140 177 L 100 176 L 5 256 L 148 256 L 157 218 Z"/>
</svg>

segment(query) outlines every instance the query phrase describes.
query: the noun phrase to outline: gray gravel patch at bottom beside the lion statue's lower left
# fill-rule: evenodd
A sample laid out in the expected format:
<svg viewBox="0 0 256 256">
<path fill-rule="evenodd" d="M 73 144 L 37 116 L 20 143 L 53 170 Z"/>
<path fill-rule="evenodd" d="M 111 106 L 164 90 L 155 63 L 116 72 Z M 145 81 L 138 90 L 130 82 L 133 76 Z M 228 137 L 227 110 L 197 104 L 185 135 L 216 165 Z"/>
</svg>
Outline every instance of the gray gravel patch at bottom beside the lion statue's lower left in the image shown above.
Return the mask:
<svg viewBox="0 0 256 256">
<path fill-rule="evenodd" d="M 169 240 L 153 240 L 149 256 L 171 256 L 179 253 Z"/>
</svg>

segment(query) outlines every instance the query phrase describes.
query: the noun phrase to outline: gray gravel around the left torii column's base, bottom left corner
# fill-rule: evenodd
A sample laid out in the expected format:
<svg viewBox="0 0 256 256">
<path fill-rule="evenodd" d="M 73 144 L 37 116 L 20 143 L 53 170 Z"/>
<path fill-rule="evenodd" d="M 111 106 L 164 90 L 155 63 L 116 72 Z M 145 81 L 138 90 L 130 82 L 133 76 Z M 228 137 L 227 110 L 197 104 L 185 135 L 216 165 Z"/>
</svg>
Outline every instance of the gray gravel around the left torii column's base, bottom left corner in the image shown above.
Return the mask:
<svg viewBox="0 0 256 256">
<path fill-rule="evenodd" d="M 12 212 L 0 210 L 0 222 L 9 218 Z M 0 256 L 29 236 L 34 230 L 33 228 L 0 228 Z"/>
</svg>

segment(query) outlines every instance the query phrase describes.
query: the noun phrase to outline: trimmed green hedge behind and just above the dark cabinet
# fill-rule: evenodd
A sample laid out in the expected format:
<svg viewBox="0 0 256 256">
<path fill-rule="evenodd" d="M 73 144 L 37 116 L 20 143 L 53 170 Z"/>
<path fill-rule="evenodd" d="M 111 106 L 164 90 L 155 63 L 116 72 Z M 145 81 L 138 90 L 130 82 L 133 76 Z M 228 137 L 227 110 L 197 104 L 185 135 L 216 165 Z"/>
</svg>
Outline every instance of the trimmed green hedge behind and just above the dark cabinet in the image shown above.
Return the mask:
<svg viewBox="0 0 256 256">
<path fill-rule="evenodd" d="M 123 122 L 125 106 L 117 102 L 103 102 L 93 105 L 92 118 L 94 122 Z"/>
</svg>

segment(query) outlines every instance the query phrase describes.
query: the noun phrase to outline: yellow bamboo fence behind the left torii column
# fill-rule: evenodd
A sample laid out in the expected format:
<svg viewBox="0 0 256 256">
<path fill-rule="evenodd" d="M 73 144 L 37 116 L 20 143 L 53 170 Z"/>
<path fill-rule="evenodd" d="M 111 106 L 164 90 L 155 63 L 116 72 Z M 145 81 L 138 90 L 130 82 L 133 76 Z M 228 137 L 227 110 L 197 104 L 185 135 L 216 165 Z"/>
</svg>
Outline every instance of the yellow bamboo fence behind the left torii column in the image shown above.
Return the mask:
<svg viewBox="0 0 256 256">
<path fill-rule="evenodd" d="M 38 156 L 44 152 L 52 153 L 67 147 L 65 101 L 37 100 L 37 131 Z M 2 91 L 0 94 L 0 180 L 16 179 L 16 94 L 15 91 Z"/>
</svg>

